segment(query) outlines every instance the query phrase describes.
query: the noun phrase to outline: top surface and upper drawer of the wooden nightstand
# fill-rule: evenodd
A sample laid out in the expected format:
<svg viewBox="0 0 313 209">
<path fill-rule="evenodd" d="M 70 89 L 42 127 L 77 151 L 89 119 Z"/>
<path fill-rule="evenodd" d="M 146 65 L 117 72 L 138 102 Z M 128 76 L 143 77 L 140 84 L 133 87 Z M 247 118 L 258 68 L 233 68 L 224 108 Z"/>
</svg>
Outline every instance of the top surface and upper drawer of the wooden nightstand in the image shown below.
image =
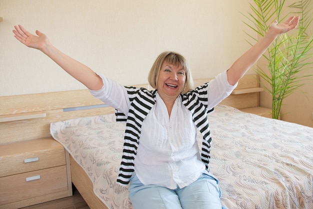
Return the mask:
<svg viewBox="0 0 313 209">
<path fill-rule="evenodd" d="M 0 145 L 0 177 L 59 165 L 65 165 L 65 151 L 54 139 Z"/>
</svg>

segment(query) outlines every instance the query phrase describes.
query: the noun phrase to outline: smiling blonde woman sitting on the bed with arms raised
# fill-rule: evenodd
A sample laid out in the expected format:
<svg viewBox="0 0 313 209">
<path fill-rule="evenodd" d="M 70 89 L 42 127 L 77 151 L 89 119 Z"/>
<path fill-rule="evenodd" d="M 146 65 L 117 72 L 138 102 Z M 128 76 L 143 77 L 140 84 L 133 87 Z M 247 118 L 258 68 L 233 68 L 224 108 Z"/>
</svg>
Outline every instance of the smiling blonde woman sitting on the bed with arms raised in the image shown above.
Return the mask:
<svg viewBox="0 0 313 209">
<path fill-rule="evenodd" d="M 136 208 L 221 208 L 218 180 L 209 173 L 210 131 L 207 112 L 227 97 L 238 80 L 282 33 L 294 29 L 299 17 L 271 24 L 266 35 L 214 80 L 191 90 L 192 77 L 185 59 L 164 52 L 149 75 L 154 91 L 123 87 L 64 55 L 47 37 L 34 36 L 15 26 L 15 38 L 38 49 L 90 93 L 116 109 L 125 121 L 123 155 L 117 182 L 129 185 Z M 196 128 L 203 136 L 201 151 Z M 140 143 L 139 143 L 140 141 Z"/>
</svg>

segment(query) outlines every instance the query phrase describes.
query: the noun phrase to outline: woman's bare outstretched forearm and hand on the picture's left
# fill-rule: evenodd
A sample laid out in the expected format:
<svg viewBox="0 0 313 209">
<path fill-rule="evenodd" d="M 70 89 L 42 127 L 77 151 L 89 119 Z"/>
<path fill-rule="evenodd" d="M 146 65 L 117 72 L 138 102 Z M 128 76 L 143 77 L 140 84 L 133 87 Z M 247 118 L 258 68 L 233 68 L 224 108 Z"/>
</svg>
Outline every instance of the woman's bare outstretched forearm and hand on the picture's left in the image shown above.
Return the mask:
<svg viewBox="0 0 313 209">
<path fill-rule="evenodd" d="M 69 75 L 81 82 L 88 89 L 98 90 L 103 86 L 102 79 L 90 68 L 68 57 L 51 45 L 47 37 L 36 31 L 36 35 L 28 33 L 22 26 L 14 26 L 15 38 L 27 47 L 40 50 L 56 64 L 64 69 Z"/>
</svg>

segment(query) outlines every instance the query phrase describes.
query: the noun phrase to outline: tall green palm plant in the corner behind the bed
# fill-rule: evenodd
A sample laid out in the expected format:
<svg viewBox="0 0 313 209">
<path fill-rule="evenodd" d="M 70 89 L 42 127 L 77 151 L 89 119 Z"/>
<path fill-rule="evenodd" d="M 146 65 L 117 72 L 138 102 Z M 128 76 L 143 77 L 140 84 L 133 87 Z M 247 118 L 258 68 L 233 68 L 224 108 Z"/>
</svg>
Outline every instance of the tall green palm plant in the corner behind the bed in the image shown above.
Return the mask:
<svg viewBox="0 0 313 209">
<path fill-rule="evenodd" d="M 312 73 L 299 75 L 300 71 L 308 69 L 313 64 L 309 60 L 313 55 L 313 38 L 308 34 L 308 27 L 313 20 L 311 1 L 303 0 L 288 6 L 290 10 L 288 14 L 284 11 L 284 0 L 253 0 L 253 2 L 254 5 L 250 4 L 252 12 L 247 15 L 241 14 L 247 20 L 244 24 L 262 37 L 274 20 L 279 24 L 280 20 L 284 21 L 290 14 L 300 16 L 295 32 L 278 37 L 264 53 L 267 69 L 256 66 L 256 73 L 264 82 L 260 82 L 260 85 L 272 96 L 272 118 L 278 119 L 282 100 L 304 85 L 303 80 L 309 80 L 312 76 Z M 253 35 L 245 33 L 252 39 L 252 42 L 247 40 L 249 44 L 252 45 L 257 41 Z"/>
</svg>

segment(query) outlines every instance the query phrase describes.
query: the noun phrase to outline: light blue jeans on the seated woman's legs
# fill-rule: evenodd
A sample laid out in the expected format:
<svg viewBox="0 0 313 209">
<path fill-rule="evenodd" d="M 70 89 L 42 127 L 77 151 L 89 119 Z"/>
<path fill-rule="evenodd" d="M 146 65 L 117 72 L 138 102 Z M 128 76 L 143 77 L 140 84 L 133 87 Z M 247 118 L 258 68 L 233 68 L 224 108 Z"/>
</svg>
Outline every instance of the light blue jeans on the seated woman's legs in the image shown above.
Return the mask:
<svg viewBox="0 0 313 209">
<path fill-rule="evenodd" d="M 143 185 L 134 173 L 130 178 L 128 191 L 134 209 L 222 208 L 218 180 L 205 173 L 190 185 L 183 188 L 177 186 L 175 189 Z"/>
</svg>

